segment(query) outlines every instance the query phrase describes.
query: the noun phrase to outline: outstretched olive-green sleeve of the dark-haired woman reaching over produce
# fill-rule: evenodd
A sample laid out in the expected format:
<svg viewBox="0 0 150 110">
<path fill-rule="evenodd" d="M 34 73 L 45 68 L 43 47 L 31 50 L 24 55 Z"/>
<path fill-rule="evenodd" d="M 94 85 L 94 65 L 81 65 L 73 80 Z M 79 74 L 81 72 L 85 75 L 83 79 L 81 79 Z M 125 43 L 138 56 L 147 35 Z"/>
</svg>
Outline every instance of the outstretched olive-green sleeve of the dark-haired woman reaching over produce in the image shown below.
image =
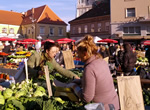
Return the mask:
<svg viewBox="0 0 150 110">
<path fill-rule="evenodd" d="M 77 77 L 76 74 L 73 72 L 61 67 L 53 58 L 51 61 L 46 61 L 45 65 L 48 65 L 49 72 L 51 73 L 53 70 L 56 70 L 58 73 L 60 73 L 63 76 L 66 76 L 68 78 L 73 79 L 74 77 Z"/>
</svg>

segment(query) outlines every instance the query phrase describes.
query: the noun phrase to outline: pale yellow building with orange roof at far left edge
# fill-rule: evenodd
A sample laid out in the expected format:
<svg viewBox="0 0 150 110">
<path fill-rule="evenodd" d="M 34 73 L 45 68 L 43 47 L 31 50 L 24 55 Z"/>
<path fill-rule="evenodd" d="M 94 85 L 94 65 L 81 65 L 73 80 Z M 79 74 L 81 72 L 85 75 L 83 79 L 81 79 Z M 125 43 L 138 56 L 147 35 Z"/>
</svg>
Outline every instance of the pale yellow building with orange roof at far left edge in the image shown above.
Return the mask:
<svg viewBox="0 0 150 110">
<path fill-rule="evenodd" d="M 0 37 L 18 38 L 22 14 L 0 10 Z"/>
</svg>

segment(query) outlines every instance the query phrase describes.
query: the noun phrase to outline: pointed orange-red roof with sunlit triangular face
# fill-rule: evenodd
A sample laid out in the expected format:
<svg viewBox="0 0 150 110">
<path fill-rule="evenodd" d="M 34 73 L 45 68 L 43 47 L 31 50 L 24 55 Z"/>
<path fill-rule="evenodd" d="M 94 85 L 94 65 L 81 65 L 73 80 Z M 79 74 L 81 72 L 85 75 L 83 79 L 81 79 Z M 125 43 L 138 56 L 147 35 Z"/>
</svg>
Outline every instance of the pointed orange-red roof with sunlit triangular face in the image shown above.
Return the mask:
<svg viewBox="0 0 150 110">
<path fill-rule="evenodd" d="M 28 10 L 25 14 L 22 24 L 31 24 L 31 18 L 33 18 L 36 23 L 67 25 L 47 5 Z"/>
</svg>

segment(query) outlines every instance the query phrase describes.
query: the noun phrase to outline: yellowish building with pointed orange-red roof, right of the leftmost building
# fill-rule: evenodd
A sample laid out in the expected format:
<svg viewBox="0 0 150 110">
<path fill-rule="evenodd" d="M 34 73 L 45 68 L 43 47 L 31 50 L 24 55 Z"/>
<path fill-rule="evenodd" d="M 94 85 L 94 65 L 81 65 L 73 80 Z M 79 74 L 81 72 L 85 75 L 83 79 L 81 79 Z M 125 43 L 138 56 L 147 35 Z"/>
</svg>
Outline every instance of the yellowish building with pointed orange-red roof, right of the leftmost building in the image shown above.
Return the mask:
<svg viewBox="0 0 150 110">
<path fill-rule="evenodd" d="M 67 24 L 47 5 L 28 10 L 21 25 L 22 34 L 28 38 L 59 39 L 66 36 Z"/>
</svg>

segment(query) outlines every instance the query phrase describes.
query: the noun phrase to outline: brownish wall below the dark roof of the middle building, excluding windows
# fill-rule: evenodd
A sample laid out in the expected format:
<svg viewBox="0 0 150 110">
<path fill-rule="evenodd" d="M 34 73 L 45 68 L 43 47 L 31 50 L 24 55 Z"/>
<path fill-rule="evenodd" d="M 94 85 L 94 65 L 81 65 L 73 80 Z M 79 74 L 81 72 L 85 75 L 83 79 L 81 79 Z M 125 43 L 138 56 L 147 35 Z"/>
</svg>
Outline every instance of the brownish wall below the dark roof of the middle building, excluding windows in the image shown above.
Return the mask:
<svg viewBox="0 0 150 110">
<path fill-rule="evenodd" d="M 105 23 L 110 22 L 110 16 L 86 18 L 74 21 L 70 23 L 70 36 L 71 38 L 83 37 L 86 34 L 92 36 L 100 36 L 101 38 L 108 38 L 110 36 L 110 28 L 108 31 L 105 30 Z M 101 31 L 98 32 L 98 23 L 101 23 Z M 91 32 L 91 24 L 94 24 L 94 32 Z M 88 31 L 84 32 L 84 26 L 87 25 Z M 78 27 L 81 27 L 81 33 L 78 33 Z M 109 26 L 110 27 L 110 26 Z M 73 33 L 73 28 L 75 28 L 75 33 Z"/>
</svg>

